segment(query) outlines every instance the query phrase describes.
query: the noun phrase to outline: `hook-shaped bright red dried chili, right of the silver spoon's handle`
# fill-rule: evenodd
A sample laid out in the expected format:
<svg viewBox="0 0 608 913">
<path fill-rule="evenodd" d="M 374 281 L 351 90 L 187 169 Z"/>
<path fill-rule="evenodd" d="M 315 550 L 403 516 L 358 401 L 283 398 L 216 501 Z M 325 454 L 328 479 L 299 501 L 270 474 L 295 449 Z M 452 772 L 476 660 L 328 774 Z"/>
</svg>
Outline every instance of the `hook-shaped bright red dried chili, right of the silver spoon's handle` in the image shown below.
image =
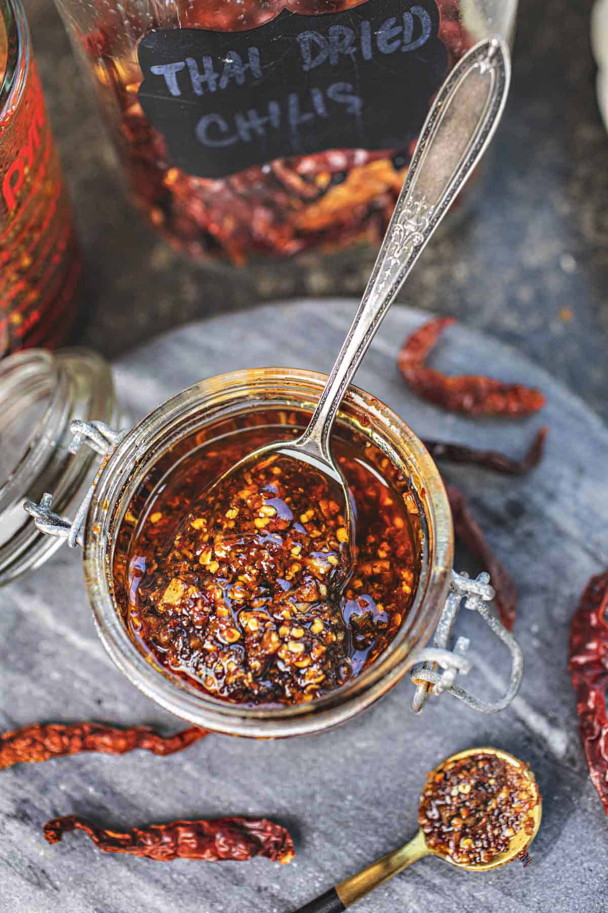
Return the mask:
<svg viewBox="0 0 608 913">
<path fill-rule="evenodd" d="M 529 415 L 545 404 L 540 390 L 521 383 L 503 383 L 479 374 L 448 377 L 428 368 L 425 364 L 428 352 L 446 327 L 454 322 L 452 317 L 429 320 L 408 336 L 399 352 L 399 370 L 419 396 L 450 412 L 467 415 Z"/>
</svg>

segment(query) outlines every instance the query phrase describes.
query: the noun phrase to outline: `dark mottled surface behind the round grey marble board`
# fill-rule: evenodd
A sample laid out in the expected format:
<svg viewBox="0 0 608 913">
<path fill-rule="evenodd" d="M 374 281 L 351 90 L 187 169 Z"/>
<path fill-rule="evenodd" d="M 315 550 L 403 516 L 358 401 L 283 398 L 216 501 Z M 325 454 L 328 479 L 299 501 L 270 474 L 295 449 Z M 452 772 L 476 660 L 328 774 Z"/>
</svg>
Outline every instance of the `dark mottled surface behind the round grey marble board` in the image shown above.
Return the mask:
<svg viewBox="0 0 608 913">
<path fill-rule="evenodd" d="M 171 252 L 125 201 L 53 4 L 24 2 L 87 261 L 81 341 L 114 355 L 264 299 L 361 291 L 371 250 L 251 270 L 197 268 Z M 510 101 L 484 195 L 425 252 L 401 299 L 499 336 L 608 418 L 608 137 L 595 101 L 591 7 L 521 0 Z"/>
</svg>

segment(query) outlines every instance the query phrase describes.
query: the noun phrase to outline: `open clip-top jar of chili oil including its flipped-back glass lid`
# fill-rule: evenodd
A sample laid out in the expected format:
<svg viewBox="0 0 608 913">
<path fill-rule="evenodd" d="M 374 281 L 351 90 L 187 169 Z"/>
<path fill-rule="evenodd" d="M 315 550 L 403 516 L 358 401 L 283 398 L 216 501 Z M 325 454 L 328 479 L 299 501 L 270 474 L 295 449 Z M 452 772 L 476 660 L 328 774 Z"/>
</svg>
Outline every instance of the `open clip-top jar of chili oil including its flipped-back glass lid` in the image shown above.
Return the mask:
<svg viewBox="0 0 608 913">
<path fill-rule="evenodd" d="M 482 609 L 510 650 L 510 685 L 488 703 L 454 684 L 463 659 L 448 640 L 459 604 L 472 599 L 476 607 L 493 591 L 487 575 L 469 581 L 452 570 L 448 500 L 426 448 L 356 387 L 334 432 L 358 513 L 347 585 L 329 592 L 347 540 L 337 500 L 318 479 L 298 485 L 299 475 L 282 477 L 271 464 L 263 467 L 263 498 L 239 490 L 238 503 L 219 513 L 222 535 L 192 551 L 188 537 L 204 538 L 208 516 L 200 487 L 253 443 L 293 437 L 325 381 L 296 369 L 224 374 L 173 396 L 130 431 L 115 431 L 111 373 L 93 352 L 9 356 L 0 362 L 0 435 L 14 468 L 0 485 L 0 583 L 39 566 L 63 540 L 83 546 L 88 598 L 109 655 L 160 706 L 203 729 L 260 738 L 327 729 L 407 672 L 417 709 L 425 682 L 483 712 L 508 706 L 520 686 L 520 647 Z M 244 518 L 252 507 L 254 535 L 236 550 L 245 565 L 229 580 L 223 560 L 239 537 L 235 508 Z M 257 582 L 256 558 L 265 562 Z M 253 592 L 257 583 L 273 586 L 273 599 Z M 192 596 L 200 585 L 207 592 Z M 201 664 L 205 646 L 212 662 Z"/>
</svg>

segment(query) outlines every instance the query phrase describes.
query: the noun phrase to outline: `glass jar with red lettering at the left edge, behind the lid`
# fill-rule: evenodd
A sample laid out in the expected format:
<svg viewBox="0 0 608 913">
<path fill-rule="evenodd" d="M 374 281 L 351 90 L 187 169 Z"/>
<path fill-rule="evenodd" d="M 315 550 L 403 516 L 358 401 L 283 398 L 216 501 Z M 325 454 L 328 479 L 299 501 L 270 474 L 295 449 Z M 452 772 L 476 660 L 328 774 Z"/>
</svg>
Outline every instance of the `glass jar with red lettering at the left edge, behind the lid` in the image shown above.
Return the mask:
<svg viewBox="0 0 608 913">
<path fill-rule="evenodd" d="M 79 276 L 26 16 L 20 0 L 0 0 L 0 358 L 65 339 Z"/>
</svg>

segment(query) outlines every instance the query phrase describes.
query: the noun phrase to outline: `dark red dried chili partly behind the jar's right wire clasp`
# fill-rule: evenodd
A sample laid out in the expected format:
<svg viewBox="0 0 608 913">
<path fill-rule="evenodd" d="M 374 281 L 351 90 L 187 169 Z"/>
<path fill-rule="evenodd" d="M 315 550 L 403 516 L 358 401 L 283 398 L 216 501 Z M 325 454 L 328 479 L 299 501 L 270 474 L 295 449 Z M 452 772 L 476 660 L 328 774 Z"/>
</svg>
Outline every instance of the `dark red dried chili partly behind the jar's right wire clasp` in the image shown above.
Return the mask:
<svg viewBox="0 0 608 913">
<path fill-rule="evenodd" d="M 510 573 L 489 548 L 479 523 L 473 517 L 467 499 L 453 485 L 448 485 L 449 506 L 452 509 L 454 532 L 456 538 L 462 540 L 476 558 L 479 559 L 496 592 L 496 607 L 499 610 L 500 621 L 508 631 L 513 630 L 515 614 L 517 613 L 517 590 Z"/>
</svg>

